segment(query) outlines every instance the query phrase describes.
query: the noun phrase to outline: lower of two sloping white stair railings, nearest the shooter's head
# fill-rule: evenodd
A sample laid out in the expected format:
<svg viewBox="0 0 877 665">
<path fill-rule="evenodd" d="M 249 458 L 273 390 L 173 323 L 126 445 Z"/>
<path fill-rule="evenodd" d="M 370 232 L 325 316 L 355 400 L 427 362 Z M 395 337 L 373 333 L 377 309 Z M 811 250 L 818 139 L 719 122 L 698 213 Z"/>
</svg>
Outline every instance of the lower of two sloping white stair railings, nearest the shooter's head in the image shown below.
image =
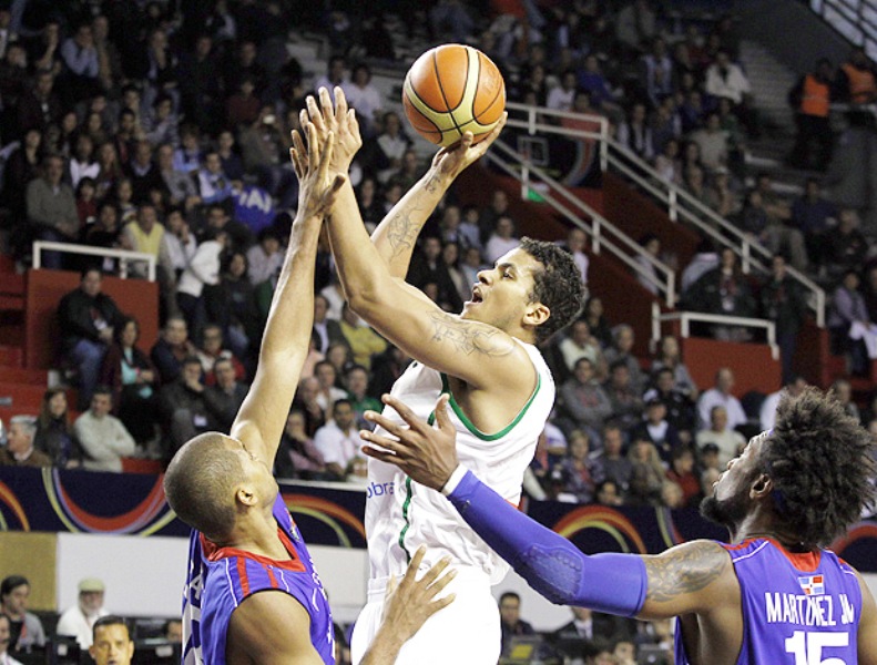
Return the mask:
<svg viewBox="0 0 877 665">
<path fill-rule="evenodd" d="M 645 252 L 642 245 L 502 141 L 497 141 L 491 147 L 496 150 L 487 153 L 488 161 L 508 175 L 520 178 L 524 194 L 529 190 L 538 192 L 548 205 L 584 231 L 591 238 L 594 254 L 600 254 L 605 247 L 638 276 L 655 286 L 667 307 L 675 305 L 676 276 L 670 266 Z M 500 157 L 498 152 L 506 158 Z M 539 182 L 533 182 L 533 178 Z M 647 270 L 638 258 L 650 264 L 654 273 Z"/>
</svg>

